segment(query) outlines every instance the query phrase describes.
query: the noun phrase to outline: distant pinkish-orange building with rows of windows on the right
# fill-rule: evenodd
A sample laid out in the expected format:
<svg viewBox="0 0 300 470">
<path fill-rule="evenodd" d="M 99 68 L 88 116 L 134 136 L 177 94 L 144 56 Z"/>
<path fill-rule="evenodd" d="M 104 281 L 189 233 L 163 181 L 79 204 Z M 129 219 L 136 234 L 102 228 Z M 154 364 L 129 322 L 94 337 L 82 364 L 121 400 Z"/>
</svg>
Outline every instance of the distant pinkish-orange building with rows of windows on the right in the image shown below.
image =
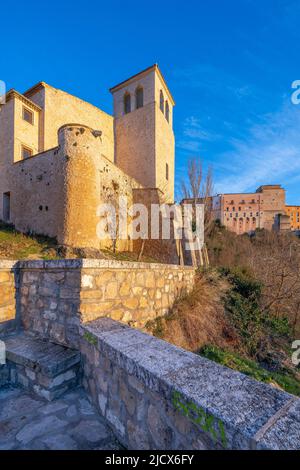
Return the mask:
<svg viewBox="0 0 300 470">
<path fill-rule="evenodd" d="M 255 193 L 219 194 L 212 198 L 215 219 L 236 234 L 258 228 L 276 230 L 278 215 L 285 215 L 285 190 L 280 185 L 260 186 Z"/>
</svg>

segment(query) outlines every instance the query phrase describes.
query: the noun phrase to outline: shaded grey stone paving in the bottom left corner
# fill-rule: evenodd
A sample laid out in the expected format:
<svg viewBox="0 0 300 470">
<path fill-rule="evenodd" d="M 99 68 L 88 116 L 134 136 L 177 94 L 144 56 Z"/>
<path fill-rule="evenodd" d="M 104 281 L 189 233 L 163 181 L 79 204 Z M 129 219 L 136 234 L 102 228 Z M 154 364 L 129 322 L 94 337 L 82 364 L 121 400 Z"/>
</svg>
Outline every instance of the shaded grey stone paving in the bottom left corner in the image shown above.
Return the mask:
<svg viewBox="0 0 300 470">
<path fill-rule="evenodd" d="M 0 450 L 120 448 L 82 388 L 51 403 L 20 389 L 0 390 Z"/>
</svg>

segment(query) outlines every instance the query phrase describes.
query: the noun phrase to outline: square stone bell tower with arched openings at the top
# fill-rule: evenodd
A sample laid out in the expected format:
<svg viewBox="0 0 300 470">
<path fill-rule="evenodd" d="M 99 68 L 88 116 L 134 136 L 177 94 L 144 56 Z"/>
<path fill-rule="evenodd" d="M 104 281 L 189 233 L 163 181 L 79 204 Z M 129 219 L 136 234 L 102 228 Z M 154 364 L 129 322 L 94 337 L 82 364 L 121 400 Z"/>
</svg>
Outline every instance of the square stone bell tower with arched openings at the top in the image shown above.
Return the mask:
<svg viewBox="0 0 300 470">
<path fill-rule="evenodd" d="M 174 200 L 173 97 L 157 64 L 110 89 L 115 164 L 144 188 Z"/>
</svg>

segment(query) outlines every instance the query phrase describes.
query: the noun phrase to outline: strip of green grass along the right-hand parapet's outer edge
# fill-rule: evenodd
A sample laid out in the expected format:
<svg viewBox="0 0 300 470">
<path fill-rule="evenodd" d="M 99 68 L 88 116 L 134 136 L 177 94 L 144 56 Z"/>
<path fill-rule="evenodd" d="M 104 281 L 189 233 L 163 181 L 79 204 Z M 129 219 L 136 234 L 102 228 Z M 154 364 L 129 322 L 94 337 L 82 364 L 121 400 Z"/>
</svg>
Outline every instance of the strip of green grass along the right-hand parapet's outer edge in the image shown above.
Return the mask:
<svg viewBox="0 0 300 470">
<path fill-rule="evenodd" d="M 263 369 L 255 361 L 211 345 L 206 345 L 201 348 L 199 354 L 223 366 L 227 366 L 230 369 L 237 370 L 249 377 L 259 380 L 260 382 L 276 383 L 286 392 L 300 396 L 300 382 L 293 372 L 288 369 L 285 373 L 270 372 Z"/>
</svg>

